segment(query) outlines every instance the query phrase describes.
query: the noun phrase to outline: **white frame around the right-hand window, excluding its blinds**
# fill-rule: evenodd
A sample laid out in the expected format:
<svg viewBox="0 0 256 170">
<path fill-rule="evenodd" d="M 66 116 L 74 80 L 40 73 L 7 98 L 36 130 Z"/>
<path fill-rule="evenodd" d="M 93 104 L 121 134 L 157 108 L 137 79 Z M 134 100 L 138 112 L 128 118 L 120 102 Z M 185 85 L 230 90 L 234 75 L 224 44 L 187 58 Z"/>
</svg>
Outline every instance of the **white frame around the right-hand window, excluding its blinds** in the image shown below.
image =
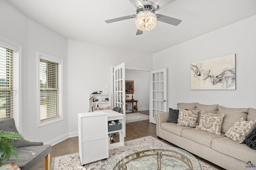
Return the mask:
<svg viewBox="0 0 256 170">
<path fill-rule="evenodd" d="M 59 65 L 59 117 L 55 119 L 49 119 L 41 122 L 41 113 L 40 113 L 40 59 L 51 61 L 54 63 L 58 63 Z M 38 127 L 42 127 L 45 125 L 49 125 L 52 123 L 56 123 L 58 121 L 62 121 L 64 119 L 64 113 L 63 113 L 63 59 L 59 57 L 55 57 L 52 55 L 48 55 L 46 53 L 42 53 L 40 51 L 37 51 L 37 67 L 38 67 L 38 74 L 37 74 L 37 94 L 38 94 Z"/>
</svg>

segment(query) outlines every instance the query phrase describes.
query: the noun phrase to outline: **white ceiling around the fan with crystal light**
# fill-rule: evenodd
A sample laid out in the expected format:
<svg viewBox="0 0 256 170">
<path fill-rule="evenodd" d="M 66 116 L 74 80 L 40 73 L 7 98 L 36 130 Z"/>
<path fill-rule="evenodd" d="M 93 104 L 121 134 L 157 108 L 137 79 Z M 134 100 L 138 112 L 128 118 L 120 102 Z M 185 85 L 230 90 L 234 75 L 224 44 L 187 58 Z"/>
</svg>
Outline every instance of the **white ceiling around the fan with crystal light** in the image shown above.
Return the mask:
<svg viewBox="0 0 256 170">
<path fill-rule="evenodd" d="M 158 21 L 147 34 L 136 35 L 134 18 L 114 23 L 104 21 L 136 14 L 136 8 L 129 0 L 8 2 L 32 20 L 68 39 L 148 53 L 156 53 L 256 15 L 256 0 L 176 0 L 156 14 L 178 18 L 182 20 L 180 25 Z"/>
</svg>

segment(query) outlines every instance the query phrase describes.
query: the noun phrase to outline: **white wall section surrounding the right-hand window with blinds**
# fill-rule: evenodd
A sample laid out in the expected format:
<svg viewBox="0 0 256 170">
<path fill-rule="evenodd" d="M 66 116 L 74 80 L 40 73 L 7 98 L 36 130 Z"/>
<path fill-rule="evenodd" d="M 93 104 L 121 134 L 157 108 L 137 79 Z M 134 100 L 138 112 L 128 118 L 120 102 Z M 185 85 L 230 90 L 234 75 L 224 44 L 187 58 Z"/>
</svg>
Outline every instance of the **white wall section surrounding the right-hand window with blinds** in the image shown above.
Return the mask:
<svg viewBox="0 0 256 170">
<path fill-rule="evenodd" d="M 37 86 L 37 55 L 40 51 L 63 59 L 63 114 L 64 120 L 37 127 L 38 93 Z M 24 126 L 27 126 L 29 135 L 40 134 L 39 141 L 58 143 L 59 139 L 68 137 L 68 40 L 35 21 L 28 20 L 28 117 Z M 22 115 L 24 117 L 24 115 Z M 34 120 L 34 121 L 32 121 Z M 55 139 L 57 138 L 57 139 Z M 56 141 L 55 141 L 56 140 Z"/>
</svg>

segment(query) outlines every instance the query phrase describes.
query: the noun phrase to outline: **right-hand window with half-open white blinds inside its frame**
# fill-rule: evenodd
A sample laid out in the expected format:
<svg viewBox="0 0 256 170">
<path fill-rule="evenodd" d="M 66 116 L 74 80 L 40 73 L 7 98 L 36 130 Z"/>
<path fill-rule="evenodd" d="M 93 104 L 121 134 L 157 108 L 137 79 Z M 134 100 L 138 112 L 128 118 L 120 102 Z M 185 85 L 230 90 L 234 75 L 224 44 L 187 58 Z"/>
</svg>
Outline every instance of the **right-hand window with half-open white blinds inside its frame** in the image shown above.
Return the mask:
<svg viewBox="0 0 256 170">
<path fill-rule="evenodd" d="M 40 123 L 62 118 L 61 61 L 40 54 Z"/>
</svg>

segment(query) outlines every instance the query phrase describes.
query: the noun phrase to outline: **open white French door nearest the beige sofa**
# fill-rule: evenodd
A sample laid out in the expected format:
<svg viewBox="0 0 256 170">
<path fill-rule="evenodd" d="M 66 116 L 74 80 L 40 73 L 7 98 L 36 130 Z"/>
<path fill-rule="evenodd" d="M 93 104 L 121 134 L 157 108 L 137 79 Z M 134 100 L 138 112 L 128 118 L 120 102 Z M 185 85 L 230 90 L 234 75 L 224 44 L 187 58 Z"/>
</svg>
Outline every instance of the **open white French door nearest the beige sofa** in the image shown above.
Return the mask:
<svg viewBox="0 0 256 170">
<path fill-rule="evenodd" d="M 150 71 L 149 121 L 156 124 L 154 115 L 167 111 L 167 69 Z"/>
</svg>

